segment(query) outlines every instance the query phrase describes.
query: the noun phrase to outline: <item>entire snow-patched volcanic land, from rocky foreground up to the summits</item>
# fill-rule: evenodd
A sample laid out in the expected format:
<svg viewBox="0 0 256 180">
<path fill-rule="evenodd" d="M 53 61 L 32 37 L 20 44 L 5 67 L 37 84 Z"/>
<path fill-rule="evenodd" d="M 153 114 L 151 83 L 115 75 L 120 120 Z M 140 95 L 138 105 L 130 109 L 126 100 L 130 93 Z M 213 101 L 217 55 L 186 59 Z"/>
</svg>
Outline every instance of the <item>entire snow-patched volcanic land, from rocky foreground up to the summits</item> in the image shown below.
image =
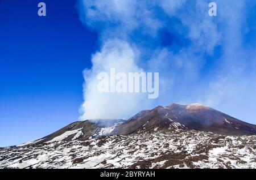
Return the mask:
<svg viewBox="0 0 256 180">
<path fill-rule="evenodd" d="M 0 148 L 0 168 L 256 168 L 255 127 L 201 105 L 158 106 Z"/>
</svg>

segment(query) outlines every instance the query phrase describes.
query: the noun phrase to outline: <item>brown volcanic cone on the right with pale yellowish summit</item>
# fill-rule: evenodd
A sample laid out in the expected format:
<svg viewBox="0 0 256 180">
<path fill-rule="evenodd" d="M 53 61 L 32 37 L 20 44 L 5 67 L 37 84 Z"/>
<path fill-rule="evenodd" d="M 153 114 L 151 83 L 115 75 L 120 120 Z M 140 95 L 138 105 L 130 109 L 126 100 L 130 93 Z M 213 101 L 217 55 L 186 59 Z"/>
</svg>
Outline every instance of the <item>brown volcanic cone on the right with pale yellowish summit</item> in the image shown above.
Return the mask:
<svg viewBox="0 0 256 180">
<path fill-rule="evenodd" d="M 129 121 L 117 126 L 112 134 L 128 135 L 159 128 L 187 128 L 222 135 L 253 135 L 256 126 L 199 104 L 158 106 L 143 110 Z"/>
</svg>

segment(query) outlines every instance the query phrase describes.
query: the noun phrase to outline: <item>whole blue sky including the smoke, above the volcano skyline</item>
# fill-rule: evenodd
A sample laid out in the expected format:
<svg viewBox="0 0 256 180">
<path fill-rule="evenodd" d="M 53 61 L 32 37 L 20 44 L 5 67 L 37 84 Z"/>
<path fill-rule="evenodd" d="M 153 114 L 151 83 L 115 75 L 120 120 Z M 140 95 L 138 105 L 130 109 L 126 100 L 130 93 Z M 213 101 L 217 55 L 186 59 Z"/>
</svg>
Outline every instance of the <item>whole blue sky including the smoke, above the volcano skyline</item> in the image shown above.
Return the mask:
<svg viewBox="0 0 256 180">
<path fill-rule="evenodd" d="M 215 2 L 217 17 L 209 1 L 0 1 L 0 147 L 172 102 L 255 124 L 256 2 Z M 106 67 L 159 72 L 159 98 L 97 95 Z"/>
</svg>

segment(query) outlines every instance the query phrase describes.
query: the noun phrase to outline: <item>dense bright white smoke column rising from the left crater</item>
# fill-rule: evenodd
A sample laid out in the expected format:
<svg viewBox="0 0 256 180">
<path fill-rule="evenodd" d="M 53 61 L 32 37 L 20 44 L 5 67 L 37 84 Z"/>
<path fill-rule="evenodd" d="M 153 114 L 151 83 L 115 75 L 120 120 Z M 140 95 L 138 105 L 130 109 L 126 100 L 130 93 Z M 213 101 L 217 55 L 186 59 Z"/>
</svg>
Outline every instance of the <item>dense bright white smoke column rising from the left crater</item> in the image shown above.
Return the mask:
<svg viewBox="0 0 256 180">
<path fill-rule="evenodd" d="M 115 68 L 118 72 L 143 72 L 136 65 L 135 50 L 126 42 L 111 40 L 105 42 L 100 52 L 92 57 L 93 67 L 84 71 L 84 99 L 81 119 L 127 118 L 137 112 L 142 104 L 142 93 L 100 93 L 97 91 L 97 75 Z"/>
</svg>

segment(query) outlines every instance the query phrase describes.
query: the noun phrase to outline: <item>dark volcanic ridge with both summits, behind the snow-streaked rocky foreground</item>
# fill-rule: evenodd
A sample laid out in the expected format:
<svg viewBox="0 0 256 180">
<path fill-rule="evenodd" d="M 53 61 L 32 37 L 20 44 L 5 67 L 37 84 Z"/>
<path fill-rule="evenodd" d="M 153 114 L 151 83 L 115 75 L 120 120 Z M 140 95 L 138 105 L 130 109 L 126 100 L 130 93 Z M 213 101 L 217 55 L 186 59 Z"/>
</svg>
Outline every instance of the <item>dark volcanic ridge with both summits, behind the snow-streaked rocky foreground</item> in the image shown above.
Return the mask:
<svg viewBox="0 0 256 180">
<path fill-rule="evenodd" d="M 57 140 L 85 140 L 108 135 L 129 135 L 158 130 L 196 130 L 220 135 L 255 135 L 256 125 L 243 122 L 201 104 L 156 106 L 142 110 L 128 120 L 87 119 L 76 121 L 28 144 L 51 143 Z M 59 138 L 57 138 L 59 137 Z"/>
</svg>

